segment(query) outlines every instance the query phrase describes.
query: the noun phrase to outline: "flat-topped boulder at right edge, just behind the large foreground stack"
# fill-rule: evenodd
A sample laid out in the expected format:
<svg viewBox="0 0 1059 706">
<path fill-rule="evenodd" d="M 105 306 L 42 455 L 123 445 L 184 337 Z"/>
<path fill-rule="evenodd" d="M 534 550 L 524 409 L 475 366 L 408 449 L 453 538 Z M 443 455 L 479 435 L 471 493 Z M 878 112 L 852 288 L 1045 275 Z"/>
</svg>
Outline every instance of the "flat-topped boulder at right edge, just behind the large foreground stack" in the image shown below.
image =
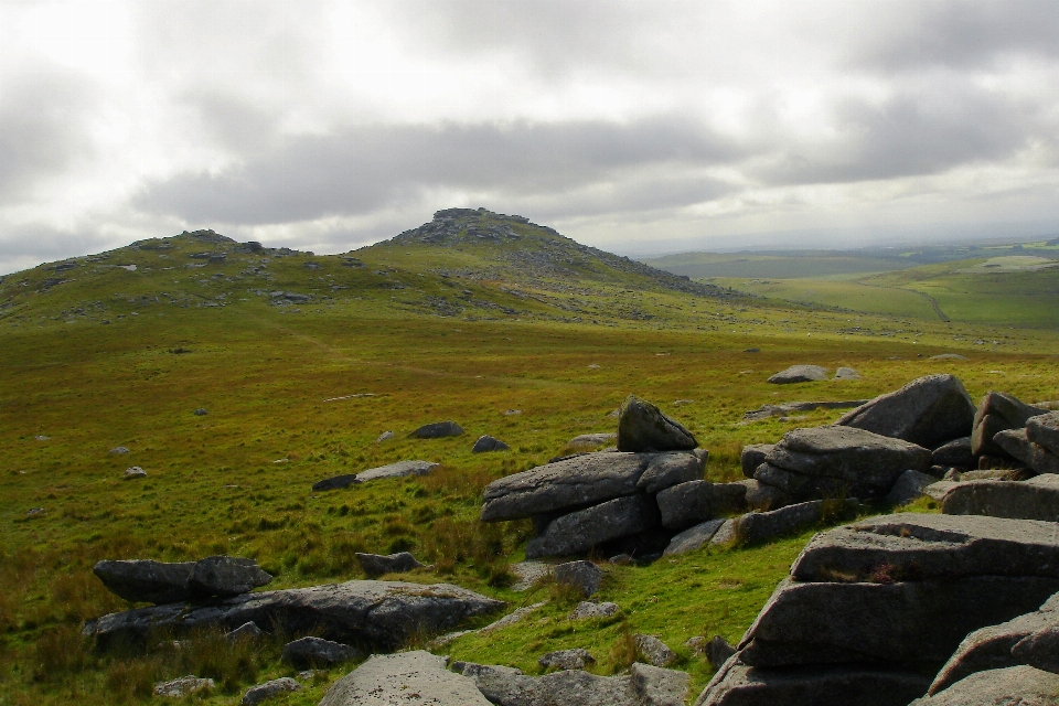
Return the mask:
<svg viewBox="0 0 1059 706">
<path fill-rule="evenodd" d="M 941 511 L 946 515 L 991 515 L 1059 522 L 1059 475 L 1028 481 L 967 481 L 949 488 Z"/>
</svg>

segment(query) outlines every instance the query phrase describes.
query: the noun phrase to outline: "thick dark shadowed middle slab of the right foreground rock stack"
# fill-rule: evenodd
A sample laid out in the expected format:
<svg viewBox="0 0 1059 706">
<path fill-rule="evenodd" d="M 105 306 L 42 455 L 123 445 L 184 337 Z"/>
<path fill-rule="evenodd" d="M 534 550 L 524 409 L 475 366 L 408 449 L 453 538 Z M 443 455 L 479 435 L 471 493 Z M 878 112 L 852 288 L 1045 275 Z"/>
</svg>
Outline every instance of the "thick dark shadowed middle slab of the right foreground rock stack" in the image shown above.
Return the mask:
<svg viewBox="0 0 1059 706">
<path fill-rule="evenodd" d="M 1059 578 L 801 582 L 785 579 L 739 644 L 750 666 L 941 664 L 978 628 L 1036 609 Z"/>
</svg>

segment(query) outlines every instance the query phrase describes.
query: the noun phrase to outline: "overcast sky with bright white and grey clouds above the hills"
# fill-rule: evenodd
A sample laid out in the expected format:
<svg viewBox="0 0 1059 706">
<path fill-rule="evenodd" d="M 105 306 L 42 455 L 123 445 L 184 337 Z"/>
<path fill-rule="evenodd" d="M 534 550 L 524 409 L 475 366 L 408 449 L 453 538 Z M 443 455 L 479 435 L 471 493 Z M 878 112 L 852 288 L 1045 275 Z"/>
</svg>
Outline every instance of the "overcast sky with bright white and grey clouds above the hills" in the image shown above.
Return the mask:
<svg viewBox="0 0 1059 706">
<path fill-rule="evenodd" d="M 0 0 L 0 274 L 484 206 L 623 255 L 1059 235 L 1052 0 Z"/>
</svg>

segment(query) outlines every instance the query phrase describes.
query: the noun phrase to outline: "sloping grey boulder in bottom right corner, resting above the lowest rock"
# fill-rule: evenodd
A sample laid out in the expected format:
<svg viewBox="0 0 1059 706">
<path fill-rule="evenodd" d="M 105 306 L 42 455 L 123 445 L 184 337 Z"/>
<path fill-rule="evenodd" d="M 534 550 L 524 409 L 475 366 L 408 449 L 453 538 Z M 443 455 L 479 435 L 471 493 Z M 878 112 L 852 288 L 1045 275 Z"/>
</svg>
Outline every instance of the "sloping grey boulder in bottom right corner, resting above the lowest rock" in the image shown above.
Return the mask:
<svg viewBox="0 0 1059 706">
<path fill-rule="evenodd" d="M 975 672 L 1027 664 L 1027 655 L 1017 654 L 1015 648 L 1035 633 L 1057 627 L 1059 597 L 1052 596 L 1034 612 L 975 630 L 960 643 L 927 693 L 937 694 Z"/>
</svg>

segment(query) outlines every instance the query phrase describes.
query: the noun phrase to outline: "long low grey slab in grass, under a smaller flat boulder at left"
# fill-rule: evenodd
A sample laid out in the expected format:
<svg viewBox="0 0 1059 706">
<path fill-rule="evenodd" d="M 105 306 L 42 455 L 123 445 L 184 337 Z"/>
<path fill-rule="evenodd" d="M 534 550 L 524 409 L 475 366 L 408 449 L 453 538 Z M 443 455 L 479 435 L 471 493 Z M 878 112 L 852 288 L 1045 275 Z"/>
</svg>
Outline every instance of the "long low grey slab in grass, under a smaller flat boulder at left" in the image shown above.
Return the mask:
<svg viewBox="0 0 1059 706">
<path fill-rule="evenodd" d="M 317 632 L 336 642 L 395 649 L 419 632 L 440 633 L 503 606 L 449 584 L 346 581 L 245 593 L 205 606 L 168 603 L 110 613 L 89 620 L 82 632 L 106 644 L 140 640 L 153 629 L 190 633 L 253 621 L 276 631 Z"/>
</svg>

